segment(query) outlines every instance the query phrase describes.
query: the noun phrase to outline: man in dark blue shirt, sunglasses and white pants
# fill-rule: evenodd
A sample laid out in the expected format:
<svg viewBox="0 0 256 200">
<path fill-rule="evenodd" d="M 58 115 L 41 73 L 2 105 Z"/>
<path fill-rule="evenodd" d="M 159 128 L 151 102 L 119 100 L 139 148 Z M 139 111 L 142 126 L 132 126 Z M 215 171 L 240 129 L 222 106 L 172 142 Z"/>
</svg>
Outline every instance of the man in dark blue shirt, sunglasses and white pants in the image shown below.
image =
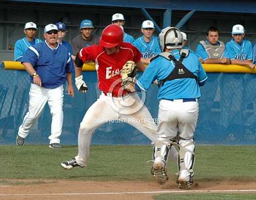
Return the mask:
<svg viewBox="0 0 256 200">
<path fill-rule="evenodd" d="M 22 64 L 30 74 L 29 110 L 18 129 L 17 146 L 23 146 L 31 127 L 40 117 L 46 103 L 52 114 L 50 148 L 60 148 L 63 125 L 63 85 L 68 82 L 68 94 L 74 95 L 71 72 L 74 65 L 71 55 L 57 43 L 58 29 L 49 24 L 45 27 L 45 42 L 29 47 Z"/>
</svg>

